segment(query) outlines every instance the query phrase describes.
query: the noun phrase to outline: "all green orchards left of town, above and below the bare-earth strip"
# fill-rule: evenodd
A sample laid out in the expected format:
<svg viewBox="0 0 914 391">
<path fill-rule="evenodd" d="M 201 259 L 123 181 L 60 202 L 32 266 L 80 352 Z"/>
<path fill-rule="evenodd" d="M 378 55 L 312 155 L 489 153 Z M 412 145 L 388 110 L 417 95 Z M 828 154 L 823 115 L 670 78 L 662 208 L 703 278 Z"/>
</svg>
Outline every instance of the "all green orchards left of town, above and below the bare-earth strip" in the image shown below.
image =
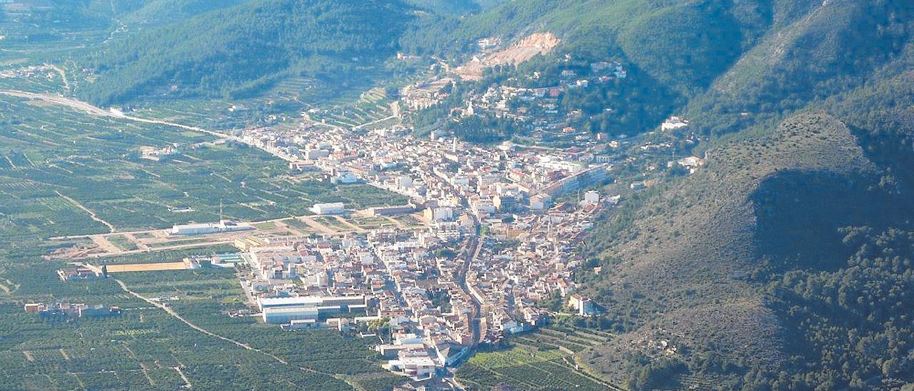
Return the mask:
<svg viewBox="0 0 914 391">
<path fill-rule="evenodd" d="M 347 207 L 405 202 L 367 185 L 292 178 L 267 153 L 168 126 L 92 117 L 0 95 L 0 388 L 3 389 L 389 389 L 403 381 L 379 365 L 367 341 L 333 331 L 284 333 L 258 318 L 232 318 L 243 293 L 231 269 L 123 273 L 147 297 L 212 333 L 201 333 L 122 291 L 113 280 L 58 280 L 57 247 L 88 246 L 78 234 L 169 227 L 219 217 L 261 220 L 310 214 L 318 202 Z M 139 146 L 176 144 L 160 162 Z M 193 212 L 177 213 L 175 209 Z M 95 219 L 93 219 L 95 217 Z M 122 235 L 112 244 L 133 249 Z M 193 243 L 188 239 L 186 243 Z M 226 246 L 153 251 L 108 263 L 175 261 Z M 86 302 L 125 310 L 107 321 L 45 322 L 25 302 Z M 288 364 L 271 357 L 274 354 Z"/>
</svg>

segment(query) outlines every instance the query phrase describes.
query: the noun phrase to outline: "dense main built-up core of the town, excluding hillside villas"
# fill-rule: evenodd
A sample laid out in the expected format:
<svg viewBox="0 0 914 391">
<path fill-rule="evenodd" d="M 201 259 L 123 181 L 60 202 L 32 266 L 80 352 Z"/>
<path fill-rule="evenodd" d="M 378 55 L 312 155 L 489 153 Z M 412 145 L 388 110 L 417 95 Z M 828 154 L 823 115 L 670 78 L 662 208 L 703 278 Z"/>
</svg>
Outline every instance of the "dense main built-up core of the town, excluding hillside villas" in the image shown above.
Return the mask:
<svg viewBox="0 0 914 391">
<path fill-rule="evenodd" d="M 240 139 L 287 160 L 291 174 L 314 172 L 409 198 L 365 210 L 316 204 L 314 220 L 419 222 L 236 238 L 245 265 L 242 287 L 263 322 L 377 337 L 389 370 L 421 379 L 460 365 L 481 343 L 547 322 L 550 311 L 538 303 L 557 295 L 577 316 L 600 312 L 575 293 L 573 281 L 583 261 L 580 237 L 601 209 L 622 200 L 594 190 L 613 182 L 614 169 L 610 149 L 596 143 L 597 136 L 586 147 L 550 149 L 483 146 L 435 133 L 416 138 L 402 128 L 353 132 L 318 125 L 296 132 L 249 129 Z M 645 145 L 636 149 L 664 148 Z M 690 157 L 670 164 L 702 162 Z"/>
</svg>

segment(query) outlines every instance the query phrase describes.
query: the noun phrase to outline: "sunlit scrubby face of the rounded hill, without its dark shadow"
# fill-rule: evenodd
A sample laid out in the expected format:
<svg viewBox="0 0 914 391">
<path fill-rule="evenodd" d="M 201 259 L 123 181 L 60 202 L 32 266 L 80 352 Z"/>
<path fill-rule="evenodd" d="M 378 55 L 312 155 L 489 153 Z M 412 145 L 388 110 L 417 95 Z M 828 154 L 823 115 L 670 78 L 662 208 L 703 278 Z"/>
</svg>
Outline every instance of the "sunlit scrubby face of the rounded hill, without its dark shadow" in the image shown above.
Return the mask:
<svg viewBox="0 0 914 391">
<path fill-rule="evenodd" d="M 781 322 L 749 272 L 767 252 L 758 239 L 768 218 L 760 214 L 760 194 L 788 190 L 778 188 L 785 173 L 835 185 L 872 178 L 877 167 L 850 130 L 824 112 L 795 115 L 769 136 L 709 151 L 702 170 L 665 185 L 639 209 L 632 240 L 603 254 L 612 270 L 594 297 L 632 331 L 590 353 L 590 364 L 624 380 L 631 369 L 624 363 L 631 361 L 621 357 L 662 356 L 656 344 L 665 340 L 689 352 L 688 361 L 714 354 L 733 363 L 742 357 L 747 365 L 783 365 Z"/>
</svg>

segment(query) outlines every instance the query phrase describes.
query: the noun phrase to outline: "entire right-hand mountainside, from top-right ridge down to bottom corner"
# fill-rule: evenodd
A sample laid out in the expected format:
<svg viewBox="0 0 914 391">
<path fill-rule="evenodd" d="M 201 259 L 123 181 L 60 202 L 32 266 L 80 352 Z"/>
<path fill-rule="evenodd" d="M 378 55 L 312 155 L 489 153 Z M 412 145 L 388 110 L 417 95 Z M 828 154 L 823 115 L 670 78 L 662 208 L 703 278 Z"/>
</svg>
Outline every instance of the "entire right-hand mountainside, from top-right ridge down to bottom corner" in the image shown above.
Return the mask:
<svg viewBox="0 0 914 391">
<path fill-rule="evenodd" d="M 692 100 L 698 129 L 728 134 L 708 143 L 707 165 L 590 236 L 612 271 L 581 277 L 626 332 L 590 363 L 635 388 L 914 382 L 909 5 L 847 6 L 844 19 L 817 22 L 820 7 L 763 37 Z"/>
</svg>

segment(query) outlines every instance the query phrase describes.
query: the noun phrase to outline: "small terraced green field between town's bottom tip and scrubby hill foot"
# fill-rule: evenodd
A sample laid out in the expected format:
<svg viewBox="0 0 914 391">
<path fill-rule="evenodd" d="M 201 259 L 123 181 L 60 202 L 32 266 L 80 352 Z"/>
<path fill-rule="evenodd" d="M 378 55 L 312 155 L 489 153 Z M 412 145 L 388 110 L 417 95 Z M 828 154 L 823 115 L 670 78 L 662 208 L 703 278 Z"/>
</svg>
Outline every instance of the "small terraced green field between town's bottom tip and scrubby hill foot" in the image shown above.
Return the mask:
<svg viewBox="0 0 914 391">
<path fill-rule="evenodd" d="M 537 333 L 511 337 L 508 346 L 479 351 L 462 365 L 457 380 L 472 389 L 489 389 L 506 384 L 518 389 L 580 389 L 611 388 L 602 380 L 578 368 L 569 347 L 559 333 L 539 330 Z"/>
</svg>

